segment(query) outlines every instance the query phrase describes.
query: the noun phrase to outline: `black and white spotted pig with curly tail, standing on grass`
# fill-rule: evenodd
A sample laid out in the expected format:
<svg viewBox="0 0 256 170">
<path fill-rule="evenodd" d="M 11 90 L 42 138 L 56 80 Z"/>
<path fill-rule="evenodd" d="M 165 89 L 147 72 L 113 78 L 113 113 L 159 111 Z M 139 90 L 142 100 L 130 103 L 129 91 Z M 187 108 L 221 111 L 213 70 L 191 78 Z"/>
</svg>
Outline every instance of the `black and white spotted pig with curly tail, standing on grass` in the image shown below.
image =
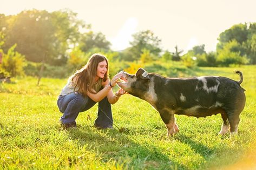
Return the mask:
<svg viewBox="0 0 256 170">
<path fill-rule="evenodd" d="M 166 78 L 156 73 L 137 70 L 135 75 L 122 71 L 122 80 L 117 83 L 122 89 L 146 100 L 159 111 L 167 127 L 167 135 L 179 131 L 174 114 L 206 117 L 221 113 L 224 121 L 219 134 L 237 133 L 239 115 L 245 106 L 242 73 L 239 81 L 226 77 L 204 76 L 195 78 Z"/>
</svg>

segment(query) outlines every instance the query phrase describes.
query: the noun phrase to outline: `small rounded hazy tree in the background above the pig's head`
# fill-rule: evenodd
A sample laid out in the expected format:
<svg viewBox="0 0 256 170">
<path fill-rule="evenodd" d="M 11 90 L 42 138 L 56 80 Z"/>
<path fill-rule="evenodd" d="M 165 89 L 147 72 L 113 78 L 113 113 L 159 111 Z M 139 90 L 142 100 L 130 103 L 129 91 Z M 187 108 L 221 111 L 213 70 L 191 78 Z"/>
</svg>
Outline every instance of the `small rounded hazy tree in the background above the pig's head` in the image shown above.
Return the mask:
<svg viewBox="0 0 256 170">
<path fill-rule="evenodd" d="M 147 49 L 155 56 L 159 56 L 161 52 L 160 43 L 161 39 L 154 35 L 150 30 L 140 31 L 133 35 L 133 42 L 130 42 L 132 47 L 129 48 L 129 51 L 132 56 L 131 60 L 137 60 L 140 58 L 143 49 Z"/>
</svg>

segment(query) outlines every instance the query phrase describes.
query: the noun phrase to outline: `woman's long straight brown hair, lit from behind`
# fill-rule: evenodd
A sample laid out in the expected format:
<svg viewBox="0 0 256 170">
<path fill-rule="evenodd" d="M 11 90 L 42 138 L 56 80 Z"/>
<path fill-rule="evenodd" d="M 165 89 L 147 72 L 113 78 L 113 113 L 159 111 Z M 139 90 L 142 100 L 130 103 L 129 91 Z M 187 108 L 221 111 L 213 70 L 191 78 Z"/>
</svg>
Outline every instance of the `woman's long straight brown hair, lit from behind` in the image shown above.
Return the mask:
<svg viewBox="0 0 256 170">
<path fill-rule="evenodd" d="M 93 89 L 94 79 L 97 74 L 97 67 L 98 64 L 104 60 L 106 60 L 108 66 L 108 59 L 99 53 L 95 53 L 91 55 L 86 65 L 84 65 L 80 70 L 77 70 L 72 76 L 70 76 L 69 80 L 74 83 L 75 90 L 78 88 L 78 93 L 81 93 L 83 96 L 86 96 L 87 91 L 94 93 L 91 91 L 91 89 Z M 74 78 L 75 81 L 73 81 Z M 107 79 L 108 67 L 103 81 L 106 81 Z"/>
</svg>

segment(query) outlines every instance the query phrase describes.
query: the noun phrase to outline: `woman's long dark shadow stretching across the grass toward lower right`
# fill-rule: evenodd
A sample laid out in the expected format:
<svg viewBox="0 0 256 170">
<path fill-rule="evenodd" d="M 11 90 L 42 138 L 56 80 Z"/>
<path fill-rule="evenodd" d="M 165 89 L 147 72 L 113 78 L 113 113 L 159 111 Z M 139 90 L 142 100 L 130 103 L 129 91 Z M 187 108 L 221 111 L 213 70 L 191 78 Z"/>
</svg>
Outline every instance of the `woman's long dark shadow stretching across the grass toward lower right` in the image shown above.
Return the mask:
<svg viewBox="0 0 256 170">
<path fill-rule="evenodd" d="M 116 129 L 99 130 L 93 126 L 78 127 L 68 130 L 71 139 L 77 140 L 80 146 L 88 145 L 88 149 L 101 155 L 102 161 L 110 159 L 123 163 L 128 169 L 186 169 L 184 165 L 170 160 L 154 145 L 141 145 L 129 138 L 129 132 Z M 93 147 L 92 147 L 93 146 Z"/>
</svg>

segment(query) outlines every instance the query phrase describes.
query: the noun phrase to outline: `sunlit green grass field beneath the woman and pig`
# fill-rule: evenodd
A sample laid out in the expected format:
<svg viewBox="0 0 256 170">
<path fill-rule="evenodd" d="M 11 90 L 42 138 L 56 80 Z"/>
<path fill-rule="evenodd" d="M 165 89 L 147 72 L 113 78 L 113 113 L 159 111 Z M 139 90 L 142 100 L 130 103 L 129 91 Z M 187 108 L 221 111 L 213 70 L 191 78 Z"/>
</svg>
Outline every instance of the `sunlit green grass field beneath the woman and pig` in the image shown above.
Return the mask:
<svg viewBox="0 0 256 170">
<path fill-rule="evenodd" d="M 189 76 L 239 80 L 234 70 L 244 74 L 247 99 L 233 138 L 216 135 L 220 114 L 176 115 L 180 132 L 167 138 L 159 113 L 128 94 L 113 105 L 114 129 L 96 130 L 95 105 L 78 115 L 77 128 L 63 130 L 56 100 L 67 79 L 43 78 L 40 86 L 32 77 L 0 83 L 0 169 L 255 169 L 256 66 L 200 67 Z"/>
</svg>

